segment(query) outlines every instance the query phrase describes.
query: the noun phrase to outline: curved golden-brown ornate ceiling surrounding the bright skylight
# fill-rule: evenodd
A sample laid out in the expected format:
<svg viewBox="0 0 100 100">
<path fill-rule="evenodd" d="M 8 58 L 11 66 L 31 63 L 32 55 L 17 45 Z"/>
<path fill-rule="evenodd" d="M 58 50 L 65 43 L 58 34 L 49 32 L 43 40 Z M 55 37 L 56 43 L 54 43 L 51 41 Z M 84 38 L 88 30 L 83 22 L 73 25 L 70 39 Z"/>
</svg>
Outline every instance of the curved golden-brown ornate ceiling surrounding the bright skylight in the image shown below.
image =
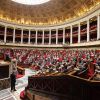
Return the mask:
<svg viewBox="0 0 100 100">
<path fill-rule="evenodd" d="M 0 19 L 27 25 L 53 25 L 86 14 L 100 0 L 50 0 L 40 5 L 23 5 L 0 0 Z"/>
</svg>

